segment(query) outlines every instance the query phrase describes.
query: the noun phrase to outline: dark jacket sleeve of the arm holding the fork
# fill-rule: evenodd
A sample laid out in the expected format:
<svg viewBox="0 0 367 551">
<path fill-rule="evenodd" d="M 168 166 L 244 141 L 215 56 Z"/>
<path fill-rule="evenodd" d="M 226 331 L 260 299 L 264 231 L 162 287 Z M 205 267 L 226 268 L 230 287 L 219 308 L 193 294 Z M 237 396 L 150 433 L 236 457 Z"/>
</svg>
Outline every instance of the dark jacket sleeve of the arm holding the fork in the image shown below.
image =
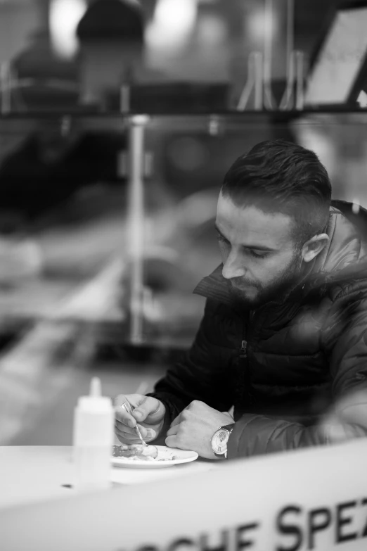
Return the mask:
<svg viewBox="0 0 367 551">
<path fill-rule="evenodd" d="M 207 300 L 205 312 L 193 342 L 181 362 L 168 369 L 155 385 L 154 396 L 166 407 L 165 429 L 193 400 L 200 400 L 218 411 L 231 407 L 228 398 L 226 367 L 228 354 L 213 342 L 216 304 Z"/>
</svg>

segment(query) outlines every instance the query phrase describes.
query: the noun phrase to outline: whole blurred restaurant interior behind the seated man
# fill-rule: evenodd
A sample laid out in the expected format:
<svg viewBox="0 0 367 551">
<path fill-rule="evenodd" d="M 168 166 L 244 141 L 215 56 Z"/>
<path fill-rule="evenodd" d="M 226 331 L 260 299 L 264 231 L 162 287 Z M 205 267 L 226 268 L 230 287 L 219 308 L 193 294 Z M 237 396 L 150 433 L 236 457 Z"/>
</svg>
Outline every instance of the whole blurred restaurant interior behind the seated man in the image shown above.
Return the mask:
<svg viewBox="0 0 367 551">
<path fill-rule="evenodd" d="M 146 393 L 190 346 L 219 187 L 257 142 L 314 149 L 334 198 L 367 203 L 363 70 L 359 103 L 297 89 L 338 5 L 0 0 L 0 445 L 70 444 L 92 374 Z"/>
</svg>

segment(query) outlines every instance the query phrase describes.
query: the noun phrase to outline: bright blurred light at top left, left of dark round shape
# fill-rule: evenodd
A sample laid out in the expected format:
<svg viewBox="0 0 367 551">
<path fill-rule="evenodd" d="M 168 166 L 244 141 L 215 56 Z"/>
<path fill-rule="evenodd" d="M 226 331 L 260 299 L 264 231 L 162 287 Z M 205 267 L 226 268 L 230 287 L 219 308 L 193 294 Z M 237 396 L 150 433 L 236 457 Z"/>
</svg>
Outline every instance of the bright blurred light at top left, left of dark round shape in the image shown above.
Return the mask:
<svg viewBox="0 0 367 551">
<path fill-rule="evenodd" d="M 78 48 L 76 30 L 87 8 L 86 0 L 51 0 L 49 25 L 55 52 L 72 58 Z"/>
</svg>

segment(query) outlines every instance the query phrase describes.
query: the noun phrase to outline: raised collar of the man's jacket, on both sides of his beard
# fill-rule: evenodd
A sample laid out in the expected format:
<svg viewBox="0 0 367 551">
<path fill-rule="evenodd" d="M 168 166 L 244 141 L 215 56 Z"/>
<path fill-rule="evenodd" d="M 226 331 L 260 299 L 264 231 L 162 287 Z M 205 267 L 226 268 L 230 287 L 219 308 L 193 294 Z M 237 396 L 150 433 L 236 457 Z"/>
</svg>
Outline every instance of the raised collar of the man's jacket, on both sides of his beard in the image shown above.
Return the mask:
<svg viewBox="0 0 367 551">
<path fill-rule="evenodd" d="M 340 207 L 345 212 L 340 210 Z M 361 209 L 361 215 L 365 217 L 367 235 L 367 211 Z M 352 203 L 333 201 L 330 207 L 328 234 L 330 241 L 318 255 L 307 276 L 302 279 L 297 288 L 293 289 L 287 298 L 294 293 L 302 291 L 302 295 L 312 289 L 319 288 L 328 283 L 337 281 L 367 277 L 367 241 L 361 234 L 361 224 L 356 225 L 356 220 L 351 220 L 348 214 L 352 213 Z M 358 220 L 358 219 L 357 219 Z M 236 303 L 230 292 L 228 281 L 222 276 L 223 265 L 219 265 L 214 272 L 204 277 L 195 287 L 193 293 L 217 300 L 221 303 L 236 308 Z M 305 281 L 306 279 L 306 281 Z"/>
</svg>

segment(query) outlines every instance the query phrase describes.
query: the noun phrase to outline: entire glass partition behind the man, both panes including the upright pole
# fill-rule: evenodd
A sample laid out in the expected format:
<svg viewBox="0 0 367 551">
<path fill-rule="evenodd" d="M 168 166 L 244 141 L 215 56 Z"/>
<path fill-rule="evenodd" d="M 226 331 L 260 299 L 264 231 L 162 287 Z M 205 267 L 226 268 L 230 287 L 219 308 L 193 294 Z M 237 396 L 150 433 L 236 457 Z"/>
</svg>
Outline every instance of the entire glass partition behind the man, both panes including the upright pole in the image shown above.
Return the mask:
<svg viewBox="0 0 367 551">
<path fill-rule="evenodd" d="M 297 141 L 326 165 L 334 198 L 363 205 L 366 122 L 366 113 L 1 119 L 2 340 L 59 315 L 93 326 L 98 346 L 187 348 L 204 304 L 192 291 L 220 262 L 213 224 L 231 163 L 259 141 Z"/>
</svg>

